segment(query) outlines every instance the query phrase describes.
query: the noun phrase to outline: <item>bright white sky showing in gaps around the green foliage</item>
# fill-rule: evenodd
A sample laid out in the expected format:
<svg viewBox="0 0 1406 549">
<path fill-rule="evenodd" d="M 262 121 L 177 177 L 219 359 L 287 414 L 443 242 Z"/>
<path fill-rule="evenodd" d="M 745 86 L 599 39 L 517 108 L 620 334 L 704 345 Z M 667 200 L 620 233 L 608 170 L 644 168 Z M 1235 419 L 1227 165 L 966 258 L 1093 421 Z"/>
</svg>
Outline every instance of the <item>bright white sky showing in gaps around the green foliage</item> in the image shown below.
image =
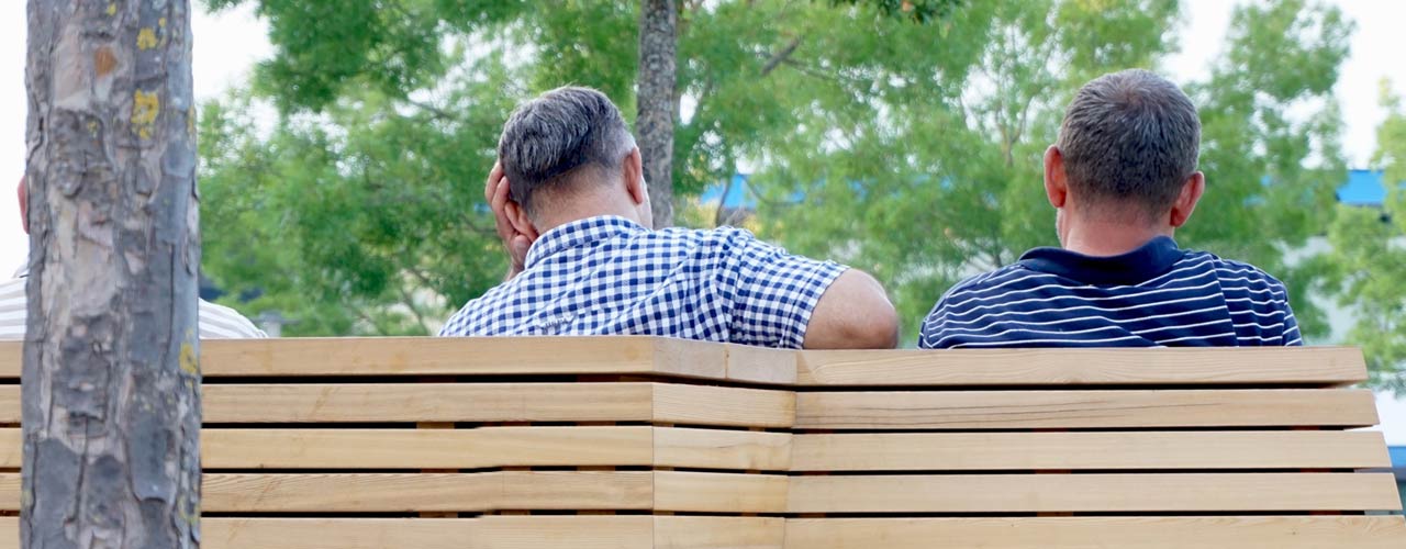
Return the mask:
<svg viewBox="0 0 1406 549">
<path fill-rule="evenodd" d="M 1398 94 L 1406 95 L 1406 52 L 1402 21 L 1406 0 L 1336 0 L 1357 21 L 1351 58 L 1337 83 L 1347 132 L 1343 145 L 1350 166 L 1365 167 L 1376 143 L 1376 125 L 1385 112 L 1376 105 L 1378 81 L 1389 79 Z M 13 194 L 24 173 L 25 125 L 25 3 L 0 1 L 0 272 L 24 263 L 28 237 L 20 230 L 20 212 Z M 198 1 L 193 1 L 198 4 Z M 1225 0 L 1182 0 L 1185 22 L 1181 53 L 1167 69 L 1180 81 L 1199 80 L 1220 53 L 1234 3 Z M 249 67 L 271 53 L 264 25 L 250 7 L 217 15 L 197 8 L 191 22 L 195 35 L 195 97 L 215 97 L 243 80 Z M 1406 445 L 1406 402 L 1378 396 L 1378 407 L 1391 444 Z"/>
</svg>

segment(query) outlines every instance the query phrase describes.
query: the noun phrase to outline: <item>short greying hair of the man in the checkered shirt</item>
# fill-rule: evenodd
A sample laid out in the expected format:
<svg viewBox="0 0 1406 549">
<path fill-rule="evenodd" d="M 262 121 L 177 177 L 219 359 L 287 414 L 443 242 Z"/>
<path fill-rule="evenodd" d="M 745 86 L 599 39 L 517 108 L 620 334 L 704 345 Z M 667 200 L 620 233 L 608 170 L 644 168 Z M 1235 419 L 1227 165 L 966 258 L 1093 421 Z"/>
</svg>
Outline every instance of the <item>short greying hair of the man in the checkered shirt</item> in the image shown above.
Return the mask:
<svg viewBox="0 0 1406 549">
<path fill-rule="evenodd" d="M 620 110 L 603 93 L 560 87 L 513 111 L 498 140 L 513 199 L 534 213 L 533 195 L 569 184 L 583 168 L 616 170 L 634 149 Z"/>
</svg>

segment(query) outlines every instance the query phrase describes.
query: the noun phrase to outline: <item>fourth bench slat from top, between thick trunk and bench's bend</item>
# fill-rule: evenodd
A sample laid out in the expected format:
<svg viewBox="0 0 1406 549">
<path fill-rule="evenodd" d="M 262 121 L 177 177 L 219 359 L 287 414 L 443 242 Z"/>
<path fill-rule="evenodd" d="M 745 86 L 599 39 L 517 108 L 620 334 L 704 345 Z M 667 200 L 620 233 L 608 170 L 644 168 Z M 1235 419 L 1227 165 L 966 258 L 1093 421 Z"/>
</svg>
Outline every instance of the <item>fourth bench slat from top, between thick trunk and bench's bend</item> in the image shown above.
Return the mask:
<svg viewBox="0 0 1406 549">
<path fill-rule="evenodd" d="M 205 475 L 208 512 L 648 510 L 650 472 Z M 15 491 L 18 493 L 18 491 Z"/>
</svg>

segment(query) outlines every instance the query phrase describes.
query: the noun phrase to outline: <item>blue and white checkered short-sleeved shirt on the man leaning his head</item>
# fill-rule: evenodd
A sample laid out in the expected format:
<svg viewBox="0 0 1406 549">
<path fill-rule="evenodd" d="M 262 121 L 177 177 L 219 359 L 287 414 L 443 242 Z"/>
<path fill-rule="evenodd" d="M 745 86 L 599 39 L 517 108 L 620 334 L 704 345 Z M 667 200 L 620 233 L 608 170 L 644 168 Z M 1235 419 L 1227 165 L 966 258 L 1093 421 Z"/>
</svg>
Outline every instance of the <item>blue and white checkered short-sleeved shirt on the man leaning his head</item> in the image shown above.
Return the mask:
<svg viewBox="0 0 1406 549">
<path fill-rule="evenodd" d="M 548 230 L 526 270 L 470 300 L 440 336 L 666 336 L 799 348 L 845 271 L 742 229 L 648 230 L 624 218 Z"/>
</svg>

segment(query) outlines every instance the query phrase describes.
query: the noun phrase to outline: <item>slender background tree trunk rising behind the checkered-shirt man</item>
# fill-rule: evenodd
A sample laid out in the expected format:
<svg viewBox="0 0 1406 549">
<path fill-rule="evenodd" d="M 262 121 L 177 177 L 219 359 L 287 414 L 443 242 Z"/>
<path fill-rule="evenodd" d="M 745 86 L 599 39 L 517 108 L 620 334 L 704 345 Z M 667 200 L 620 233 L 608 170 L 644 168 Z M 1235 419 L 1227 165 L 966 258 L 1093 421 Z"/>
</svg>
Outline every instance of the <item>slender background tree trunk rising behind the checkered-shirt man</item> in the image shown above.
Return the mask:
<svg viewBox="0 0 1406 549">
<path fill-rule="evenodd" d="M 673 118 L 679 111 L 679 13 L 675 0 L 640 1 L 640 74 L 634 133 L 650 183 L 654 226 L 673 225 Z"/>
</svg>

